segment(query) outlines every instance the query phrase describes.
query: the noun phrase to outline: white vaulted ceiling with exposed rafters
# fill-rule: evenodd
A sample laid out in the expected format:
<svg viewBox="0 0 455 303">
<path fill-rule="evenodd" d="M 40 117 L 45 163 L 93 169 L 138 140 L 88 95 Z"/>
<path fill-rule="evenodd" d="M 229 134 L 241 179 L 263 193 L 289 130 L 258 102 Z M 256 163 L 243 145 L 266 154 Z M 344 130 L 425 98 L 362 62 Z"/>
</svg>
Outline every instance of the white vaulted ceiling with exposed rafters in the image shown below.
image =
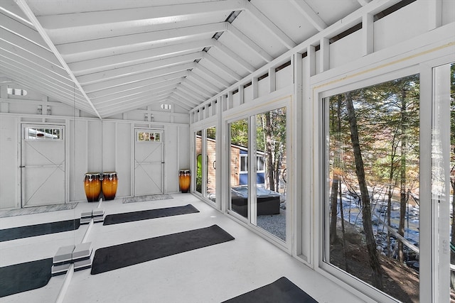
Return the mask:
<svg viewBox="0 0 455 303">
<path fill-rule="evenodd" d="M 189 111 L 370 0 L 1 0 L 0 84 L 100 118 Z"/>
</svg>

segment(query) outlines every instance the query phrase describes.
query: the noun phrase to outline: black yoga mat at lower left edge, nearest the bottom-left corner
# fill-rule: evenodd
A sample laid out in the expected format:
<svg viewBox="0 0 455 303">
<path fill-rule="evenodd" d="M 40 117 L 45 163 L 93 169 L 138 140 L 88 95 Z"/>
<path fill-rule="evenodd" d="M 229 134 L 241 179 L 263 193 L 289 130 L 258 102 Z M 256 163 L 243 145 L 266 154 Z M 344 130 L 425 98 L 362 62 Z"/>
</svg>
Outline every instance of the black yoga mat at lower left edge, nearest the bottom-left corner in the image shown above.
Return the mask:
<svg viewBox="0 0 455 303">
<path fill-rule="evenodd" d="M 52 258 L 0 268 L 0 297 L 35 290 L 48 284 Z"/>
</svg>

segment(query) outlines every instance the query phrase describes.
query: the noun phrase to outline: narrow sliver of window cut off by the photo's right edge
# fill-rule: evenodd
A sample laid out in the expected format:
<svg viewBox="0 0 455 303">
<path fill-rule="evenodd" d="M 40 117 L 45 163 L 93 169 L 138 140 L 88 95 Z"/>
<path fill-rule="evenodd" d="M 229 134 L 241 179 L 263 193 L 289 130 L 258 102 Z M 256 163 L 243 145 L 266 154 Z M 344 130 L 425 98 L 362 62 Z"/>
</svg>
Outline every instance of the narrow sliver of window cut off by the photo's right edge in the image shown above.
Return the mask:
<svg viewBox="0 0 455 303">
<path fill-rule="evenodd" d="M 454 302 L 455 63 L 434 68 L 433 77 L 436 85 L 432 109 L 432 201 L 438 222 L 434 259 L 438 264 L 439 297 L 449 299 L 450 296 L 451 302 Z M 450 275 L 449 280 L 447 274 Z"/>
</svg>

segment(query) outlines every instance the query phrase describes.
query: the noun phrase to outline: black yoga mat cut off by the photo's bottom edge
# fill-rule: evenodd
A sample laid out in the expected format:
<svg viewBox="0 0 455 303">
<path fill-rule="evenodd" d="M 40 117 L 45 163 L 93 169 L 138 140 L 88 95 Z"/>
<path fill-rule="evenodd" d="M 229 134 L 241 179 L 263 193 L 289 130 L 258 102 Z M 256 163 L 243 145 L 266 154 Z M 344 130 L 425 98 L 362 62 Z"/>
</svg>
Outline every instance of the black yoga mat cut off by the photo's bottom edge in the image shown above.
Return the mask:
<svg viewBox="0 0 455 303">
<path fill-rule="evenodd" d="M 286 277 L 223 303 L 318 303 Z"/>
</svg>

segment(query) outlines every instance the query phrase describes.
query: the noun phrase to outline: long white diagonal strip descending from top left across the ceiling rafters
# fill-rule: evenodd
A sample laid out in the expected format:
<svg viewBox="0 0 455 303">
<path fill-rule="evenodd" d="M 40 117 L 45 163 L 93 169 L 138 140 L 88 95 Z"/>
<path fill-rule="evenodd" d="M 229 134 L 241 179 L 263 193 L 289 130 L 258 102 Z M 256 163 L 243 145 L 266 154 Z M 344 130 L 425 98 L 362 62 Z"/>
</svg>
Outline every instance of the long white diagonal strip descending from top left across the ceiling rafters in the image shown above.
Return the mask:
<svg viewBox="0 0 455 303">
<path fill-rule="evenodd" d="M 95 106 L 93 106 L 92 101 L 90 101 L 89 97 L 87 97 L 87 94 L 85 94 L 84 90 L 80 86 L 80 83 L 77 81 L 75 75 L 73 75 L 73 72 L 70 70 L 65 60 L 63 60 L 63 57 L 60 55 L 60 53 L 58 53 L 57 48 L 55 48 L 55 45 L 53 45 L 47 33 L 45 33 L 43 26 L 41 26 L 41 24 L 38 22 L 38 19 L 36 19 L 36 16 L 33 13 L 33 11 L 31 11 L 30 7 L 28 7 L 28 4 L 26 4 L 26 1 L 25 0 L 15 1 L 21 8 L 23 13 L 25 13 L 26 16 L 30 19 L 31 23 L 33 23 L 33 26 L 35 26 L 36 30 L 38 31 L 38 33 L 40 33 L 41 37 L 43 37 L 43 40 L 45 40 L 45 43 L 48 45 L 50 50 L 52 50 L 52 53 L 55 55 L 55 57 L 57 57 L 60 64 L 65 68 L 65 70 L 68 71 L 68 74 L 70 75 L 71 79 L 73 79 L 75 86 L 77 87 L 77 89 L 80 90 L 80 92 L 84 95 L 85 99 L 87 100 L 87 103 L 90 104 L 90 106 L 92 107 L 93 110 L 92 112 L 94 112 L 95 115 L 98 116 L 98 118 L 102 119 L 97 109 L 95 109 Z"/>
</svg>

